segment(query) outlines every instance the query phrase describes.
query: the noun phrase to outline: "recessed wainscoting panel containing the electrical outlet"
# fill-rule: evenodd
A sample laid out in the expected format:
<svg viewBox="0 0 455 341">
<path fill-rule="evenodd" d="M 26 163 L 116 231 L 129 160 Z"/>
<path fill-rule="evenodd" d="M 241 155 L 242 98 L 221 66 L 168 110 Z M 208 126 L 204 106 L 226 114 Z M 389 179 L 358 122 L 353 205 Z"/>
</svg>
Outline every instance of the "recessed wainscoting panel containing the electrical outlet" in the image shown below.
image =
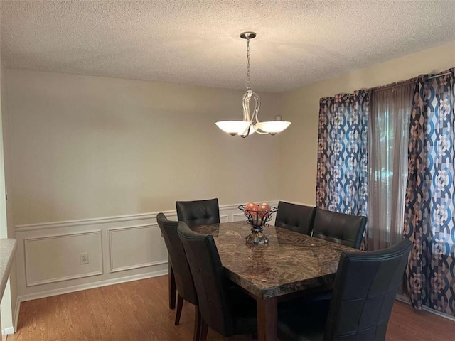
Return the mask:
<svg viewBox="0 0 455 341">
<path fill-rule="evenodd" d="M 101 230 L 24 239 L 26 285 L 102 274 Z M 80 264 L 80 254 L 88 264 Z"/>
</svg>

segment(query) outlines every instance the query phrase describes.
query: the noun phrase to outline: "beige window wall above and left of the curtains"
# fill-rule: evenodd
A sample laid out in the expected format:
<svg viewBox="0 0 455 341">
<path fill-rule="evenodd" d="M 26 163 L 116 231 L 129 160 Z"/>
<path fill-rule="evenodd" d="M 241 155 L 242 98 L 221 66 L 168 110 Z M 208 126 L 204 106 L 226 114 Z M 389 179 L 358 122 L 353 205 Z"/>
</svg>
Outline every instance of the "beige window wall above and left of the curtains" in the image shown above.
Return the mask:
<svg viewBox="0 0 455 341">
<path fill-rule="evenodd" d="M 319 99 L 341 92 L 386 85 L 422 73 L 455 67 L 455 42 L 355 70 L 283 94 L 282 115 L 292 122 L 280 135 L 279 198 L 314 205 Z"/>
</svg>

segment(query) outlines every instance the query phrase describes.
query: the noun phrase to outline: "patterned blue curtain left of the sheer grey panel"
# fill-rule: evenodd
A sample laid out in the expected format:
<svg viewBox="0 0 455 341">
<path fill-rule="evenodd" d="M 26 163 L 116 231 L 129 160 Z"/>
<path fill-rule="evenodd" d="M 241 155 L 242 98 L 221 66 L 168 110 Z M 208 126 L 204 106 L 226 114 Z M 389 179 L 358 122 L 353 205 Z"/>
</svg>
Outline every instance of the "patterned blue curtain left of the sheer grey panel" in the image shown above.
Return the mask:
<svg viewBox="0 0 455 341">
<path fill-rule="evenodd" d="M 321 98 L 316 206 L 367 215 L 368 106 L 370 94 Z"/>
</svg>

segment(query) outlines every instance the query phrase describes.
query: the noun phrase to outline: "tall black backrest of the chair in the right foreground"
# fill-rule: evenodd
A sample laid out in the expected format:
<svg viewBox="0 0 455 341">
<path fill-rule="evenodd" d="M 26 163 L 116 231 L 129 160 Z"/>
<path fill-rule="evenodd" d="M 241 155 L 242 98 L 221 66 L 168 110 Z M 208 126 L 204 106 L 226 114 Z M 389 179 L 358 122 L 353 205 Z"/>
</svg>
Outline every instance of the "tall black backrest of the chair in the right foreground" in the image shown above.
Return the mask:
<svg viewBox="0 0 455 341">
<path fill-rule="evenodd" d="M 411 246 L 341 254 L 323 340 L 385 340 Z"/>
</svg>

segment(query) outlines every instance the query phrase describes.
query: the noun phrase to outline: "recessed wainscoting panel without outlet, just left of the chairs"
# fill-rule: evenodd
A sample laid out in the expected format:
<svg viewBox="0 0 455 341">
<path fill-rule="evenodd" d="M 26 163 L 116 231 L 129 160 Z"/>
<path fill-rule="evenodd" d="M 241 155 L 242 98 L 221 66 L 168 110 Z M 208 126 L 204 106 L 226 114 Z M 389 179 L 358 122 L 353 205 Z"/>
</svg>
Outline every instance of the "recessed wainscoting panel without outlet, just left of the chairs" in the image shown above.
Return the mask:
<svg viewBox="0 0 455 341">
<path fill-rule="evenodd" d="M 109 229 L 111 272 L 168 263 L 157 224 Z"/>
</svg>

